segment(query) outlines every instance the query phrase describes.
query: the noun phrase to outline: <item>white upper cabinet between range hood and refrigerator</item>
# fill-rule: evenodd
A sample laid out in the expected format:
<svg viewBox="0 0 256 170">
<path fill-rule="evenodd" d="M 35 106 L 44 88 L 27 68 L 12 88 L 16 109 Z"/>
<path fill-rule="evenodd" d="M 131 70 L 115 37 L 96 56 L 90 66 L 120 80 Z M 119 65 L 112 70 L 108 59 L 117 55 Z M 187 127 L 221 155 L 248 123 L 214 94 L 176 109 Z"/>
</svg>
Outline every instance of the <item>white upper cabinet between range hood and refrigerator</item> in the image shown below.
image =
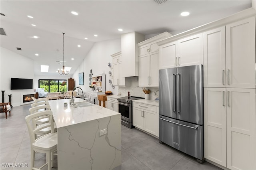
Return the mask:
<svg viewBox="0 0 256 170">
<path fill-rule="evenodd" d="M 159 46 L 156 42 L 170 36 L 172 34 L 164 32 L 138 43 L 139 86 L 158 87 Z"/>
</svg>

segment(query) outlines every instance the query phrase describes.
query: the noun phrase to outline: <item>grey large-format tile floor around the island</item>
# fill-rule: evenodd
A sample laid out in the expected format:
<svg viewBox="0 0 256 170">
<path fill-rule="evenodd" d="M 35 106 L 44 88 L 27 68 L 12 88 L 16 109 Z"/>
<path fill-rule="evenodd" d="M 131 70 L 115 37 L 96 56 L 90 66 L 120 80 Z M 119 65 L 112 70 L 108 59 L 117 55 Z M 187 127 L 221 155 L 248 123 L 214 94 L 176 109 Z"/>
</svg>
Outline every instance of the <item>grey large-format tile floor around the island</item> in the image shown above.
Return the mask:
<svg viewBox="0 0 256 170">
<path fill-rule="evenodd" d="M 0 169 L 27 170 L 30 167 L 30 141 L 25 123 L 30 105 L 14 107 L 11 116 L 5 119 L 0 114 Z M 115 170 L 220 170 L 204 162 L 200 164 L 192 157 L 185 155 L 136 128 L 122 127 L 122 165 Z M 57 170 L 57 157 L 54 157 L 54 168 Z M 35 165 L 44 164 L 44 154 L 36 153 Z M 4 163 L 22 164 L 28 167 L 4 167 Z M 43 168 L 47 170 L 47 167 Z"/>
</svg>

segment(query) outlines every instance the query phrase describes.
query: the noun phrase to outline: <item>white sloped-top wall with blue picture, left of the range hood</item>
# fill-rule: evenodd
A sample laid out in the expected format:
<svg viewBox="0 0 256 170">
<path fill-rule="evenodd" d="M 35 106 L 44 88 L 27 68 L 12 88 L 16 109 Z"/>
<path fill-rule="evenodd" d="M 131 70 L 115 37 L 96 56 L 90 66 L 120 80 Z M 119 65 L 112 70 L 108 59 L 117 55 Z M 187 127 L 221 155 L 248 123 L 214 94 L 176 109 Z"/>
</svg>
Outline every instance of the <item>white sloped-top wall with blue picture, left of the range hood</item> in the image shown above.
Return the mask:
<svg viewBox="0 0 256 170">
<path fill-rule="evenodd" d="M 108 75 L 108 71 L 111 70 L 108 67 L 108 63 L 112 63 L 112 57 L 110 55 L 119 51 L 121 51 L 121 39 L 94 43 L 92 49 L 73 75 L 75 86 L 80 87 L 83 91 L 91 91 L 89 87 L 89 74 L 90 69 L 92 69 L 93 76 L 102 73 L 106 74 L 106 91 L 112 91 L 114 95 L 117 95 L 118 88 L 115 87 L 112 89 L 108 83 L 108 80 L 111 79 L 111 76 Z M 78 73 L 82 72 L 84 72 L 84 85 L 79 85 Z"/>
</svg>

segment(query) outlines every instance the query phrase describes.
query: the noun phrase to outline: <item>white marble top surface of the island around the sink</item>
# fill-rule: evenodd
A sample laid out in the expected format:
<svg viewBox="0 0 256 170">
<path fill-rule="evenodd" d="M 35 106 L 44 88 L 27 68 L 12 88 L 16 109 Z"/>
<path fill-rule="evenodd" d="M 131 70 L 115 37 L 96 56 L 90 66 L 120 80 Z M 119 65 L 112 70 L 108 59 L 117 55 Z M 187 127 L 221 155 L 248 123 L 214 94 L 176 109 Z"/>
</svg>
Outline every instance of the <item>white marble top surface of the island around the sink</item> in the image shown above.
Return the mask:
<svg viewBox="0 0 256 170">
<path fill-rule="evenodd" d="M 88 107 L 72 107 L 70 106 L 69 101 L 70 99 L 49 101 L 57 128 L 120 114 L 98 105 Z M 86 101 L 80 98 L 74 99 L 74 103 L 79 102 Z M 68 106 L 64 107 L 64 103 L 68 103 Z"/>
</svg>

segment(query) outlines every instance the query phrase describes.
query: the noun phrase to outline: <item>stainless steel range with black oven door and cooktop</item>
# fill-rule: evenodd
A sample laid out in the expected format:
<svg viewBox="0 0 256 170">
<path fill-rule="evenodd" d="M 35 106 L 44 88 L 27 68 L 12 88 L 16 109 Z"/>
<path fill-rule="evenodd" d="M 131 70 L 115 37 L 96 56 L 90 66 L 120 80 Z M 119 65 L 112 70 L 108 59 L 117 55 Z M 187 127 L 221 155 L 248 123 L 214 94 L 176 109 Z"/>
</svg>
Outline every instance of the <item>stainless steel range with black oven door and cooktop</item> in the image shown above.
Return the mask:
<svg viewBox="0 0 256 170">
<path fill-rule="evenodd" d="M 121 124 L 129 127 L 134 128 L 132 126 L 132 101 L 144 99 L 142 97 L 120 97 L 118 98 L 118 112 L 121 113 Z"/>
</svg>

